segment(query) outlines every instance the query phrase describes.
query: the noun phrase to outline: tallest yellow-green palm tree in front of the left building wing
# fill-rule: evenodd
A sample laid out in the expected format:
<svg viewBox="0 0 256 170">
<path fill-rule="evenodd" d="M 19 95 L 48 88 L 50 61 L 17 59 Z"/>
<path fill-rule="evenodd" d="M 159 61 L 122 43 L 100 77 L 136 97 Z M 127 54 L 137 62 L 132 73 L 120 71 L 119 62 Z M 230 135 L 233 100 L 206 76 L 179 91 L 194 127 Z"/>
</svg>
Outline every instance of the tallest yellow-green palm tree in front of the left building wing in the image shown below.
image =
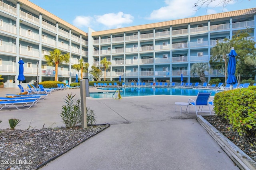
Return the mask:
<svg viewBox="0 0 256 170">
<path fill-rule="evenodd" d="M 62 54 L 59 49 L 54 49 L 53 51 L 49 51 L 50 55 L 44 55 L 44 58 L 47 61 L 48 66 L 55 65 L 55 81 L 58 79 L 58 66 L 62 63 L 69 63 L 70 62 L 70 55 L 69 53 Z"/>
</svg>

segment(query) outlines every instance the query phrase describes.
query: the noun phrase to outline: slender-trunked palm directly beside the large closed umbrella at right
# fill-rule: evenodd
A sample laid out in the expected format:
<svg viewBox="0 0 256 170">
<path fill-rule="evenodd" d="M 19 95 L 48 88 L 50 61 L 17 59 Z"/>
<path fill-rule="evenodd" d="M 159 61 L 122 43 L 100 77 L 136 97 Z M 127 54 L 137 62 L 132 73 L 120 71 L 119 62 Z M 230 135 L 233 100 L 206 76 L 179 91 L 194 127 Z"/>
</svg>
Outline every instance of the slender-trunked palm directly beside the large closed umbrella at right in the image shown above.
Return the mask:
<svg viewBox="0 0 256 170">
<path fill-rule="evenodd" d="M 215 47 L 211 49 L 212 53 L 212 61 L 214 62 L 223 62 L 225 65 L 225 83 L 227 82 L 227 75 L 228 75 L 228 56 L 227 54 L 230 53 L 230 42 L 227 39 L 223 41 L 223 43 L 217 43 Z"/>
</svg>

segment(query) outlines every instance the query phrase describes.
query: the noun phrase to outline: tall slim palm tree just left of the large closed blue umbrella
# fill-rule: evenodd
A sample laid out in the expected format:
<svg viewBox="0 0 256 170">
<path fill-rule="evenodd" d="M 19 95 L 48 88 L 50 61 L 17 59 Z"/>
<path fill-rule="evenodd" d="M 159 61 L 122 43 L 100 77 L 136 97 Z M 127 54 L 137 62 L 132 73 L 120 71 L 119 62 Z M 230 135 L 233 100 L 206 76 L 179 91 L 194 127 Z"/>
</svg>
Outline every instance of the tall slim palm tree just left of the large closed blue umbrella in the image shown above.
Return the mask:
<svg viewBox="0 0 256 170">
<path fill-rule="evenodd" d="M 225 83 L 227 82 L 228 75 L 228 55 L 230 53 L 231 47 L 228 39 L 224 39 L 222 43 L 217 43 L 211 49 L 211 57 L 210 64 L 213 65 L 212 68 L 221 69 L 224 63 L 224 75 L 225 75 Z"/>
</svg>

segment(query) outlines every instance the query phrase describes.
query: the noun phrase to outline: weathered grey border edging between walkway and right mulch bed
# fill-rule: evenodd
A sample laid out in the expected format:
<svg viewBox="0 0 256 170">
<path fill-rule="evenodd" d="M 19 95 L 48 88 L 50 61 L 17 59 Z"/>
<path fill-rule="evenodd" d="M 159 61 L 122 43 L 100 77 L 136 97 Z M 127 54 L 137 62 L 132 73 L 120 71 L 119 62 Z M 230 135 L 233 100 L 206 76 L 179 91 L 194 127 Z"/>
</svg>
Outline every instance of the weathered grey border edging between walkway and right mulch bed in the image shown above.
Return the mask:
<svg viewBox="0 0 256 170">
<path fill-rule="evenodd" d="M 206 119 L 198 115 L 197 120 L 241 170 L 256 170 L 256 162 L 222 135 Z"/>
</svg>

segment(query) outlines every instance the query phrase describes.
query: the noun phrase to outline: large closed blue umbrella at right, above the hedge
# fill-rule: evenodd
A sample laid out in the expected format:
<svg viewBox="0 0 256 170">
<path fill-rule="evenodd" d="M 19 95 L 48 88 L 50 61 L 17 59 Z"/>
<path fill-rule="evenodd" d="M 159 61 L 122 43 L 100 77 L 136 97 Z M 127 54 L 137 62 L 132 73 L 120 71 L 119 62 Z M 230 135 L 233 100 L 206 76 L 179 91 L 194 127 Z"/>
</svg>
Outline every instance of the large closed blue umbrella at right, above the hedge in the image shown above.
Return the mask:
<svg viewBox="0 0 256 170">
<path fill-rule="evenodd" d="M 236 51 L 234 47 L 232 47 L 230 53 L 229 53 L 229 60 L 228 60 L 228 79 L 227 84 L 236 84 L 237 80 L 235 77 L 236 73 Z"/>
</svg>

